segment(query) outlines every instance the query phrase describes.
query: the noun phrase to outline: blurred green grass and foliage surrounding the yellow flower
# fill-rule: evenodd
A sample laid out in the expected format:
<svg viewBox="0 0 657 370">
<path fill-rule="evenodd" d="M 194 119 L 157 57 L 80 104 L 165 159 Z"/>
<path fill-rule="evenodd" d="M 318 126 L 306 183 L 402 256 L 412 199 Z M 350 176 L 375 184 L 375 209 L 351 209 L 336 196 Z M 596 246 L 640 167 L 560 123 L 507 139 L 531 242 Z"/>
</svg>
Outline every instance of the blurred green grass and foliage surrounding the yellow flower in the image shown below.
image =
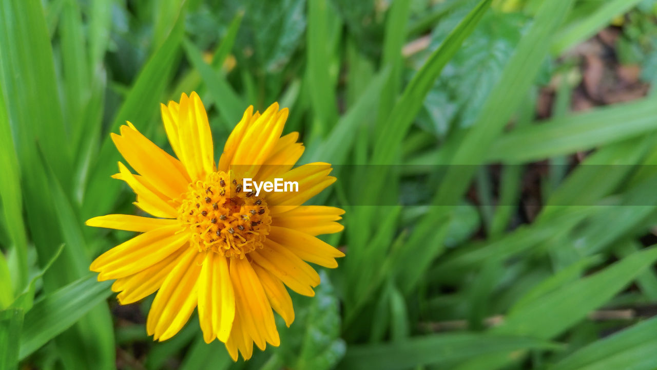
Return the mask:
<svg viewBox="0 0 657 370">
<path fill-rule="evenodd" d="M 656 0 L 0 1 L 0 369 L 656 369 Z M 89 263 L 133 236 L 109 133 L 195 90 L 338 182 L 346 252 L 233 363 Z M 217 153 L 218 154 L 218 153 Z"/>
</svg>

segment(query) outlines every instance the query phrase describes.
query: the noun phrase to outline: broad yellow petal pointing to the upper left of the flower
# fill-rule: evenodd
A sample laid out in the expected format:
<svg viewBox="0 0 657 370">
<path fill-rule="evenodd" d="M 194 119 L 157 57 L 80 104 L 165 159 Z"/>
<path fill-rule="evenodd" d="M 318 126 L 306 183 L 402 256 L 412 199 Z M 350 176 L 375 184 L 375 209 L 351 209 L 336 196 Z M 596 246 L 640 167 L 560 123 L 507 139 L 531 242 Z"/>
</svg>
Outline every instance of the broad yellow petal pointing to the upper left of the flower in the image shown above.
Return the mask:
<svg viewBox="0 0 657 370">
<path fill-rule="evenodd" d="M 121 135 L 112 134 L 112 140 L 131 167 L 162 194 L 176 199 L 187 191 L 189 176 L 175 164 L 177 159 L 150 142 L 139 131 L 121 126 Z"/>
</svg>

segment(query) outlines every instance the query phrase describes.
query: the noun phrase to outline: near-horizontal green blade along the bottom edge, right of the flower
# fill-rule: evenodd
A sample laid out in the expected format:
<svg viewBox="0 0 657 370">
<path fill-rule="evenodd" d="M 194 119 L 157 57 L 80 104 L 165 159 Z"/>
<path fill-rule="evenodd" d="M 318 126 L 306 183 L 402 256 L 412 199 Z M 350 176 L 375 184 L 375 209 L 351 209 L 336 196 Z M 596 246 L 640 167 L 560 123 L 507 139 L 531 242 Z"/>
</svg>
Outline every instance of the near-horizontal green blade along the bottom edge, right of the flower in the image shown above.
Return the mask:
<svg viewBox="0 0 657 370">
<path fill-rule="evenodd" d="M 340 369 L 394 370 L 557 344 L 524 336 L 450 333 L 417 336 L 390 344 L 350 346 Z"/>
</svg>

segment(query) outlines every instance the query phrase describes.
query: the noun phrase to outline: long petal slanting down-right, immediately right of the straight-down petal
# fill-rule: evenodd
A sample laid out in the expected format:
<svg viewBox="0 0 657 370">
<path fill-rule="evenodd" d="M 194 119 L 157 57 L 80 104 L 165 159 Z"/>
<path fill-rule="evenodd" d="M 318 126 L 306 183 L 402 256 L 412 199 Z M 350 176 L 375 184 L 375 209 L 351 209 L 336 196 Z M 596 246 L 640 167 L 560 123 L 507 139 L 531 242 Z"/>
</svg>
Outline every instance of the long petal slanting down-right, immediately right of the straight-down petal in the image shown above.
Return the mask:
<svg viewBox="0 0 657 370">
<path fill-rule="evenodd" d="M 231 258 L 230 270 L 237 311 L 248 313 L 240 316 L 245 331 L 261 350 L 265 349 L 265 341 L 279 346 L 281 339 L 271 305 L 251 263 L 246 258 Z"/>
</svg>

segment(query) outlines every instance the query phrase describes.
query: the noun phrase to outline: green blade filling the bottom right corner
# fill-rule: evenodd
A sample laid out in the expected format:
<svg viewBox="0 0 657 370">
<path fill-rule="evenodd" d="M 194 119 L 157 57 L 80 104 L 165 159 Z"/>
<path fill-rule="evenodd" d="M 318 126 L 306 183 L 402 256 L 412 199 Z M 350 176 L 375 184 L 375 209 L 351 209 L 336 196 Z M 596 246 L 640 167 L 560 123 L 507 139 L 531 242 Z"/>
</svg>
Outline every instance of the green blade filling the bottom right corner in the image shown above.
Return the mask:
<svg viewBox="0 0 657 370">
<path fill-rule="evenodd" d="M 657 367 L 657 318 L 597 340 L 562 359 L 551 370 L 651 370 Z"/>
</svg>

